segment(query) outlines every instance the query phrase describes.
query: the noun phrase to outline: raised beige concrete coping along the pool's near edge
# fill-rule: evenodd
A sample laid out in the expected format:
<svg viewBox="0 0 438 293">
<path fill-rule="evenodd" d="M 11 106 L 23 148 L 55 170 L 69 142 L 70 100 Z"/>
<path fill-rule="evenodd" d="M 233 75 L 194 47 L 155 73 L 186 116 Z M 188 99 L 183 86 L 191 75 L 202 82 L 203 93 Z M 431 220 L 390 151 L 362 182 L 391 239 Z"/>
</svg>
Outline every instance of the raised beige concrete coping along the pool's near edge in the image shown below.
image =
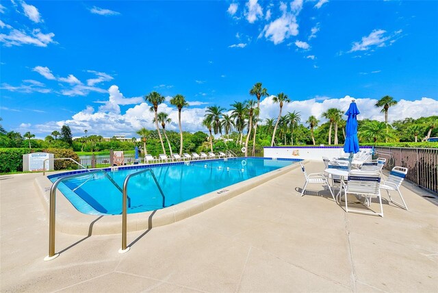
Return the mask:
<svg viewBox="0 0 438 293">
<path fill-rule="evenodd" d="M 302 161 L 305 164 L 305 161 Z M 298 163 L 298 162 L 296 162 Z M 292 164 L 269 173 L 259 175 L 255 178 L 235 183 L 226 188 L 214 190 L 194 199 L 184 201 L 172 207 L 157 209 L 150 212 L 128 214 L 127 229 L 129 232 L 151 229 L 169 225 L 179 220 L 189 218 L 205 210 L 219 205 L 220 203 L 232 199 L 248 190 L 255 188 L 267 181 L 288 173 L 299 164 Z M 49 218 L 49 198 L 52 182 L 47 176 L 36 177 L 34 185 L 38 190 L 38 195 L 44 206 L 47 218 Z M 121 233 L 121 215 L 89 215 L 79 212 L 66 199 L 64 194 L 56 192 L 56 231 L 73 235 L 110 235 Z"/>
</svg>

